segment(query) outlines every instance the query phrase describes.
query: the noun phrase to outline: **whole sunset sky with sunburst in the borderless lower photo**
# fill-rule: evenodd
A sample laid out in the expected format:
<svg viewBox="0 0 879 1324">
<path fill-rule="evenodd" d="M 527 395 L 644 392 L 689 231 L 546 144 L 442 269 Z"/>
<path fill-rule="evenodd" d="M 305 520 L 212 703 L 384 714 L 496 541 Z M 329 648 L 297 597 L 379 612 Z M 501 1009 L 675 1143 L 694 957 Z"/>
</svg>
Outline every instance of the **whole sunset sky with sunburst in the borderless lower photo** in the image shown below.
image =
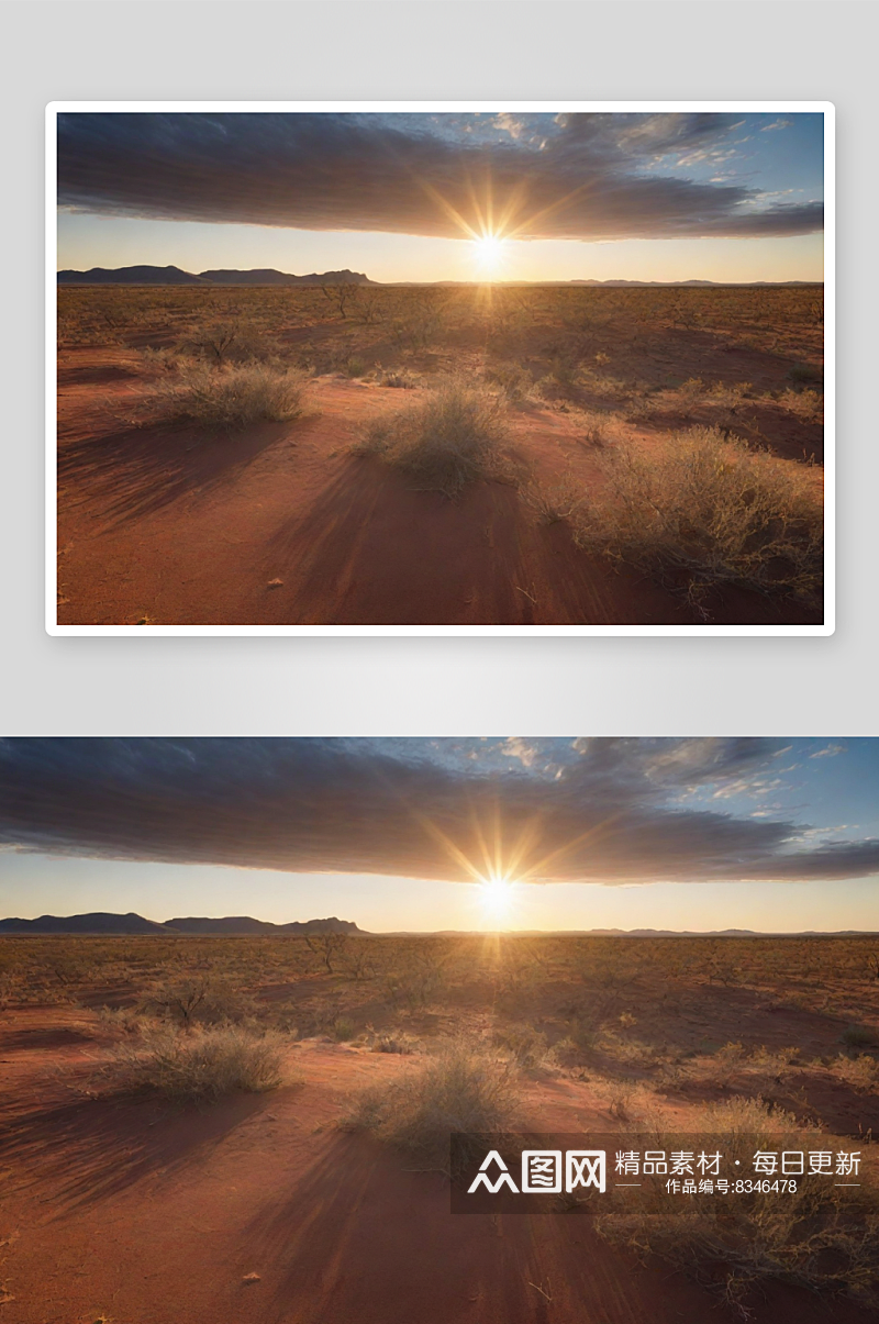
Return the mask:
<svg viewBox="0 0 879 1324">
<path fill-rule="evenodd" d="M 879 929 L 879 739 L 11 739 L 0 914 Z"/>
</svg>

